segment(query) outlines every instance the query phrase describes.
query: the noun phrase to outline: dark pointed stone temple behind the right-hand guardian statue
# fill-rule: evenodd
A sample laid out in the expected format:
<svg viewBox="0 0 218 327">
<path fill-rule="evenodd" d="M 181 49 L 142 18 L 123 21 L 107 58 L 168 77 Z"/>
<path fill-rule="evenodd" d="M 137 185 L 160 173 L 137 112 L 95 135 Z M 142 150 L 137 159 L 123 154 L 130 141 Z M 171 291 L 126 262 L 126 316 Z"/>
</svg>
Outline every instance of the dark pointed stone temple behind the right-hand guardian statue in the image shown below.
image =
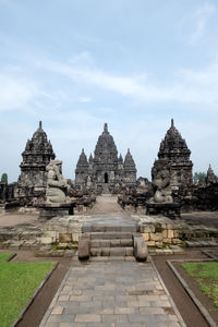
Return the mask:
<svg viewBox="0 0 218 327">
<path fill-rule="evenodd" d="M 160 143 L 158 159 L 155 160 L 152 177 L 153 180 L 161 171 L 169 171 L 170 186 L 178 190 L 180 186 L 191 185 L 193 164 L 190 160 L 191 150 L 186 142 L 174 126 L 173 119 L 165 138 Z"/>
</svg>

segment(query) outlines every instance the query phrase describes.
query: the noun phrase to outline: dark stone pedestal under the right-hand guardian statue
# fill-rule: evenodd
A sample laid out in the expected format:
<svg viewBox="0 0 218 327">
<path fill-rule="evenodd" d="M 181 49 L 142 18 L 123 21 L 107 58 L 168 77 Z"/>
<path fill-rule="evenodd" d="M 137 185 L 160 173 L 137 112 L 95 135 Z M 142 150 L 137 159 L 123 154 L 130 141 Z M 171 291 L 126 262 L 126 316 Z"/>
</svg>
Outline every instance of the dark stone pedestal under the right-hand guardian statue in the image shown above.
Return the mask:
<svg viewBox="0 0 218 327">
<path fill-rule="evenodd" d="M 148 216 L 166 216 L 172 220 L 180 218 L 180 203 L 147 203 L 146 215 Z"/>
</svg>

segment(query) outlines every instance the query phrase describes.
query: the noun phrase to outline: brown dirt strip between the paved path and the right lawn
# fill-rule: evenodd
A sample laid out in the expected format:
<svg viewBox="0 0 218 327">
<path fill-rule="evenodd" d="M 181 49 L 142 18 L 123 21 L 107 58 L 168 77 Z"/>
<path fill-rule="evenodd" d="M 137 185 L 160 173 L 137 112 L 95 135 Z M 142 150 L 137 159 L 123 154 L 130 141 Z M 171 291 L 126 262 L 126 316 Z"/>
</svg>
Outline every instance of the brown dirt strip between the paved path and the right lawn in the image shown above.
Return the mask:
<svg viewBox="0 0 218 327">
<path fill-rule="evenodd" d="M 187 327 L 208 327 L 207 322 L 202 316 L 198 308 L 195 306 L 191 298 L 187 295 L 172 270 L 167 264 L 167 259 L 197 259 L 206 258 L 201 251 L 187 250 L 184 255 L 166 255 L 166 256 L 154 256 L 154 263 L 158 269 L 170 295 L 172 296 L 182 318 L 184 319 Z M 182 268 L 181 268 L 182 269 Z M 184 275 L 183 275 L 184 276 Z M 185 278 L 186 281 L 186 278 Z M 191 282 L 192 283 L 192 282 Z M 197 294 L 196 294 L 197 295 Z M 207 305 L 206 301 L 202 301 L 203 305 Z M 215 319 L 215 318 L 214 318 Z M 218 322 L 218 320 L 217 320 Z"/>
</svg>

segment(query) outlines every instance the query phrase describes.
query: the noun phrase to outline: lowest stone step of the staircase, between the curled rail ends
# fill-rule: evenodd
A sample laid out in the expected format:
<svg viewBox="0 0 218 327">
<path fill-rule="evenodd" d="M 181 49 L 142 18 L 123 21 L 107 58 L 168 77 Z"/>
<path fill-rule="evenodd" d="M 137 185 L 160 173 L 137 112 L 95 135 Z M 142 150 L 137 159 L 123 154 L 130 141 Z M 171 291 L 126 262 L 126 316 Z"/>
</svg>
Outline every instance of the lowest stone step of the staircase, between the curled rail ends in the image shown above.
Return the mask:
<svg viewBox="0 0 218 327">
<path fill-rule="evenodd" d="M 90 247 L 92 256 L 133 256 L 133 247 Z"/>
</svg>

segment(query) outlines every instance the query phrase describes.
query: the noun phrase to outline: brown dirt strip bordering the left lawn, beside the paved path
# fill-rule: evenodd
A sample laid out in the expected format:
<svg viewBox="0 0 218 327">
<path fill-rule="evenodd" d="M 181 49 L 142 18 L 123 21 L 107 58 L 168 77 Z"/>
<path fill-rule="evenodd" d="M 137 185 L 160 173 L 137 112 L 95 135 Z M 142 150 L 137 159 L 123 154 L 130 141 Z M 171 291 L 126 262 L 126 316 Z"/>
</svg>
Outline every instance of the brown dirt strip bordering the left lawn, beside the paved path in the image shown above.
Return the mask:
<svg viewBox="0 0 218 327">
<path fill-rule="evenodd" d="M 26 313 L 23 319 L 16 325 L 17 327 L 38 327 L 50 302 L 52 301 L 62 279 L 68 272 L 72 258 L 64 257 L 35 257 L 32 251 L 12 251 L 7 250 L 0 251 L 16 253 L 16 256 L 12 262 L 58 262 L 57 268 L 53 270 L 47 282 L 44 284 L 43 289 L 39 291 Z"/>
</svg>

